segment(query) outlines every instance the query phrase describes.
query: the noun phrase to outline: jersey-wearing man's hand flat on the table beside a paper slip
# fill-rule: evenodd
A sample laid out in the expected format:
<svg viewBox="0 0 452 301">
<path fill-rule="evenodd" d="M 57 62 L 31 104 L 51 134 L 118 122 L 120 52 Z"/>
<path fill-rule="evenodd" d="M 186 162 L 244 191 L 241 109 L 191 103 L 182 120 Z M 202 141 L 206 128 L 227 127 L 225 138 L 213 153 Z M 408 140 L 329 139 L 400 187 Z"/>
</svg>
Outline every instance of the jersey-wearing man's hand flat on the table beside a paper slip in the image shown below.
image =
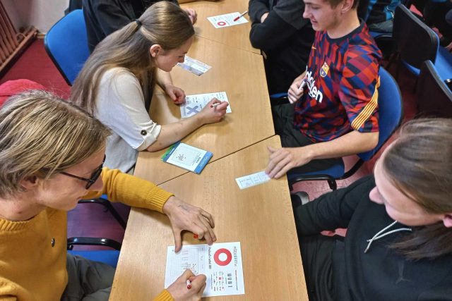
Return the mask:
<svg viewBox="0 0 452 301">
<path fill-rule="evenodd" d="M 267 147 L 267 149 L 270 152 L 270 159 L 266 173 L 270 178 L 280 178 L 290 169 L 311 161 L 309 152 L 305 152 L 304 147 L 283 147 L 280 149 Z"/>
</svg>

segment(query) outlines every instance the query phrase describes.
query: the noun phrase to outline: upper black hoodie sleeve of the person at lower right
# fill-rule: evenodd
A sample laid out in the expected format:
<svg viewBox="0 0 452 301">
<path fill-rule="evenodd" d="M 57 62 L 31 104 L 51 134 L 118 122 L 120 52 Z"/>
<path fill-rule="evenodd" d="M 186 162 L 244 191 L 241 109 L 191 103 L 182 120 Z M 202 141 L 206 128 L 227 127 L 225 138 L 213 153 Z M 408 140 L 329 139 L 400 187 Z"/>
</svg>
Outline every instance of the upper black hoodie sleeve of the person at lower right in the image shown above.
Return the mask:
<svg viewBox="0 0 452 301">
<path fill-rule="evenodd" d="M 375 186 L 373 176 L 367 176 L 347 188 L 328 192 L 314 201 L 295 208 L 295 223 L 300 235 L 314 235 L 321 231 L 347 228 L 359 200 Z"/>
</svg>

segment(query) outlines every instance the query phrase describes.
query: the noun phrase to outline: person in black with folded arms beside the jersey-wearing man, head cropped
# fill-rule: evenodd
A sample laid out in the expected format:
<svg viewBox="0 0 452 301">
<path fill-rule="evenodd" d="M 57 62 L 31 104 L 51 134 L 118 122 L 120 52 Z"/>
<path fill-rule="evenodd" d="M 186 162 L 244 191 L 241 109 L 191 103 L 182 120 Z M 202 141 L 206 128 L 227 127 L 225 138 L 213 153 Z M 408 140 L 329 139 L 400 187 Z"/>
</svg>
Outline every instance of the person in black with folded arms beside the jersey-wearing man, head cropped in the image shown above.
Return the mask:
<svg viewBox="0 0 452 301">
<path fill-rule="evenodd" d="M 306 70 L 314 30 L 302 17 L 302 0 L 250 0 L 249 39 L 265 58 L 268 92 L 287 92 Z"/>
</svg>

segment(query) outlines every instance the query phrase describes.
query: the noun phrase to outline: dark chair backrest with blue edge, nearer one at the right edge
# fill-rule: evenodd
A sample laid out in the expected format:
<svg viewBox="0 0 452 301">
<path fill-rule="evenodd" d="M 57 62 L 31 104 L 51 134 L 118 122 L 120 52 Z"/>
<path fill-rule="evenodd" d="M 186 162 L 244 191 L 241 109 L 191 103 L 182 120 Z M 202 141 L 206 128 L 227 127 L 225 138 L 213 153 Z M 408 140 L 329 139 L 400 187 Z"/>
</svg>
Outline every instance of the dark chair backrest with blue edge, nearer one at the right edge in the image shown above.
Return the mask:
<svg viewBox="0 0 452 301">
<path fill-rule="evenodd" d="M 452 91 L 441 80 L 432 61 L 422 64 L 416 102 L 423 116 L 452 117 Z"/>
</svg>

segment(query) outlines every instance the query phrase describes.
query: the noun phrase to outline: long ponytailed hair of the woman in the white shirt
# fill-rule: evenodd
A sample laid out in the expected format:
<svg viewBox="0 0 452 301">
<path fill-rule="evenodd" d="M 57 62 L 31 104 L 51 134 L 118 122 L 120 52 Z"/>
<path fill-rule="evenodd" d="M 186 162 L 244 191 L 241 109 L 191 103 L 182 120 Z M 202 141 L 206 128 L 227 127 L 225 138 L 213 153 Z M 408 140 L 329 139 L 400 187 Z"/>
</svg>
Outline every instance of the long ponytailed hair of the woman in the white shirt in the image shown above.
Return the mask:
<svg viewBox="0 0 452 301">
<path fill-rule="evenodd" d="M 147 94 L 155 82 L 150 47 L 159 44 L 164 51 L 177 49 L 193 35 L 191 20 L 182 8 L 168 1 L 153 4 L 137 21 L 97 44 L 73 84 L 71 102 L 94 113 L 100 78 L 114 67 L 133 73 L 141 81 L 143 94 Z"/>
</svg>

